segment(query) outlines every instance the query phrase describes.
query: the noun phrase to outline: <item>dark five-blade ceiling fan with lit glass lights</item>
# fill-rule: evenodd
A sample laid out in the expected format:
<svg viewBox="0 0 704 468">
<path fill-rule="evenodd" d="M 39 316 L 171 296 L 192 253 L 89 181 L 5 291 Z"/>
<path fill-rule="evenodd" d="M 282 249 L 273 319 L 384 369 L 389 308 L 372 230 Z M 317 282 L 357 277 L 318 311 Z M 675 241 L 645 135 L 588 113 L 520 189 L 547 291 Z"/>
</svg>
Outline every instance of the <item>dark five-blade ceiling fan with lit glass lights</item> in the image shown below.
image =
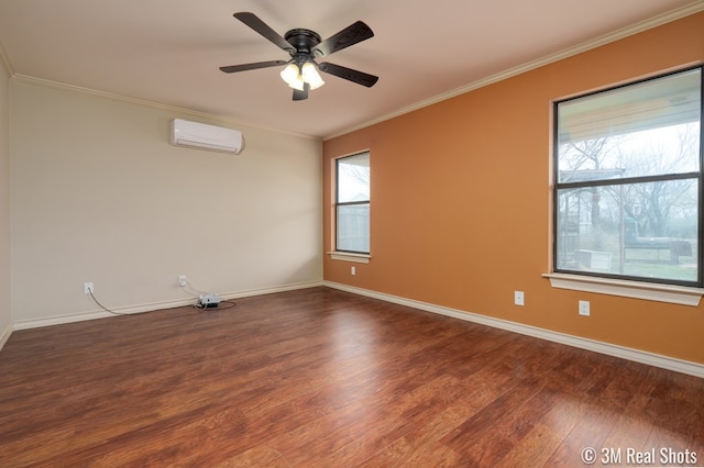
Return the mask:
<svg viewBox="0 0 704 468">
<path fill-rule="evenodd" d="M 378 77 L 363 71 L 353 70 L 329 62 L 317 63 L 317 58 L 327 57 L 351 45 L 366 41 L 374 33 L 362 21 L 358 21 L 324 41 L 318 33 L 310 30 L 295 29 L 283 37 L 264 23 L 258 16 L 250 12 L 234 13 L 234 18 L 260 33 L 262 36 L 283 48 L 290 55 L 289 60 L 256 62 L 253 64 L 230 65 L 220 67 L 226 74 L 254 70 L 257 68 L 278 67 L 285 65 L 280 75 L 284 81 L 294 89 L 294 101 L 308 99 L 308 91 L 321 87 L 324 81 L 318 70 L 344 78 L 358 85 L 371 88 Z"/>
</svg>

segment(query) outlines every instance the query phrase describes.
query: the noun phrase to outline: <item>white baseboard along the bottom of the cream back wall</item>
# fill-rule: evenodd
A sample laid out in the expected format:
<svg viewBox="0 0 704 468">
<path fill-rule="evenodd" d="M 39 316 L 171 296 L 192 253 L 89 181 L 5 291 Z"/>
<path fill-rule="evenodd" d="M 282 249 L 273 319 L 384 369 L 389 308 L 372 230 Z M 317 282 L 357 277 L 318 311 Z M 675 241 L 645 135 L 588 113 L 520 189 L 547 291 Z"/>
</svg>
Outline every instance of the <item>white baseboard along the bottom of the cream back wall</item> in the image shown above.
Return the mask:
<svg viewBox="0 0 704 468">
<path fill-rule="evenodd" d="M 252 296 L 264 296 L 264 294 L 273 294 L 276 292 L 294 291 L 296 289 L 315 288 L 318 286 L 322 286 L 322 281 L 297 282 L 297 283 L 282 285 L 282 286 L 267 287 L 267 288 L 234 291 L 234 292 L 223 292 L 223 293 L 219 292 L 218 296 L 220 296 L 224 300 L 232 300 L 232 299 L 246 298 Z M 196 299 L 197 298 L 186 298 L 186 299 L 178 299 L 173 301 L 150 302 L 145 304 L 129 305 L 129 307 L 122 307 L 122 308 L 110 308 L 109 304 L 105 304 L 105 305 L 108 307 L 108 309 L 120 314 L 134 314 L 134 313 L 151 312 L 151 311 L 157 311 L 157 310 L 164 310 L 164 309 L 180 308 L 184 305 L 191 305 L 196 302 Z M 64 323 L 84 322 L 87 320 L 96 320 L 96 319 L 106 319 L 108 316 L 114 316 L 114 314 L 111 314 L 103 310 L 94 310 L 94 311 L 81 312 L 81 313 L 56 315 L 47 319 L 18 321 L 18 322 L 14 322 L 14 324 L 11 326 L 11 330 L 38 328 L 42 326 L 61 325 Z"/>
</svg>

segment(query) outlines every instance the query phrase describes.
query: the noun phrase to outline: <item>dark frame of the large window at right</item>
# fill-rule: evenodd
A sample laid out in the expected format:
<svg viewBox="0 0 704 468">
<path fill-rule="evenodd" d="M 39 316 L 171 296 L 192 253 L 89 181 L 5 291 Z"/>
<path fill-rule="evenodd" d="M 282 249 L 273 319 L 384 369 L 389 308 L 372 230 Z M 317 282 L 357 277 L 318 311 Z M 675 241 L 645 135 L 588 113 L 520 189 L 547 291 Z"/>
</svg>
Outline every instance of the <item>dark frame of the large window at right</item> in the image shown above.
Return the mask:
<svg viewBox="0 0 704 468">
<path fill-rule="evenodd" d="M 657 175 L 648 175 L 648 176 L 635 176 L 635 177 L 625 177 L 625 178 L 604 178 L 598 180 L 582 180 L 582 181 L 560 181 L 560 113 L 559 105 L 563 102 L 573 101 L 576 99 L 582 99 L 595 94 L 600 94 L 603 92 L 608 92 L 618 89 L 629 88 L 636 85 L 640 85 L 647 81 L 652 81 L 661 78 L 667 78 L 669 76 L 688 73 L 692 70 L 700 71 L 700 135 L 698 135 L 698 171 L 689 171 L 689 172 L 674 172 L 674 174 L 657 174 Z M 652 286 L 661 286 L 663 288 L 703 288 L 704 287 L 704 65 L 697 65 L 693 67 L 688 67 L 666 74 L 660 74 L 657 76 L 632 80 L 627 83 L 607 87 L 604 89 L 600 89 L 596 91 L 585 92 L 579 96 L 573 96 L 565 99 L 556 100 L 552 102 L 552 170 L 551 170 L 551 180 L 552 180 L 552 258 L 551 258 L 551 270 L 552 274 L 546 275 L 547 277 L 564 279 L 565 281 L 586 281 L 586 282 L 608 282 L 614 281 L 615 283 L 619 283 L 619 288 L 628 287 L 630 283 L 631 287 L 635 288 L 648 288 L 648 285 Z M 588 271 L 588 270 L 578 270 L 578 269 L 568 269 L 560 268 L 558 265 L 558 254 L 559 254 L 559 226 L 560 226 L 560 191 L 565 189 L 580 189 L 580 188 L 604 188 L 604 187 L 615 187 L 615 186 L 627 186 L 627 185 L 637 185 L 637 183 L 647 183 L 647 182 L 658 182 L 658 181 L 673 181 L 673 180 L 683 180 L 690 179 L 695 180 L 698 185 L 697 190 L 697 238 L 696 238 L 696 258 L 697 258 L 697 274 L 696 280 L 678 280 L 670 278 L 652 278 L 652 277 L 642 277 L 642 276 L 631 276 L 631 275 L 620 275 L 614 272 L 606 271 Z M 623 261 L 623 259 L 622 259 Z M 580 280 L 579 278 L 583 279 Z M 553 285 L 554 287 L 554 285 Z M 571 288 L 568 288 L 571 289 Z M 581 288 L 574 288 L 581 289 Z M 581 290 L 588 290 L 581 289 Z M 617 296 L 628 296 L 628 294 L 617 294 Z M 698 300 L 697 300 L 698 301 Z"/>
</svg>

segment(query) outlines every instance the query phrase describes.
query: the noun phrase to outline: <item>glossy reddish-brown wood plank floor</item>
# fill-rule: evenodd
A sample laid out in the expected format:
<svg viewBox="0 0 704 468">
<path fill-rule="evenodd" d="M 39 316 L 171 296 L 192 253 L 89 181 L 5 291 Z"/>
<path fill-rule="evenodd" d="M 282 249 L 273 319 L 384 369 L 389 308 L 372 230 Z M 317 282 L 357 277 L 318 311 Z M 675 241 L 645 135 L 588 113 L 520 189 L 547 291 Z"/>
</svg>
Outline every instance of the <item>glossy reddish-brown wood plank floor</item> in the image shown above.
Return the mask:
<svg viewBox="0 0 704 468">
<path fill-rule="evenodd" d="M 14 332 L 0 382 L 2 467 L 704 465 L 703 379 L 327 288 Z"/>
</svg>

